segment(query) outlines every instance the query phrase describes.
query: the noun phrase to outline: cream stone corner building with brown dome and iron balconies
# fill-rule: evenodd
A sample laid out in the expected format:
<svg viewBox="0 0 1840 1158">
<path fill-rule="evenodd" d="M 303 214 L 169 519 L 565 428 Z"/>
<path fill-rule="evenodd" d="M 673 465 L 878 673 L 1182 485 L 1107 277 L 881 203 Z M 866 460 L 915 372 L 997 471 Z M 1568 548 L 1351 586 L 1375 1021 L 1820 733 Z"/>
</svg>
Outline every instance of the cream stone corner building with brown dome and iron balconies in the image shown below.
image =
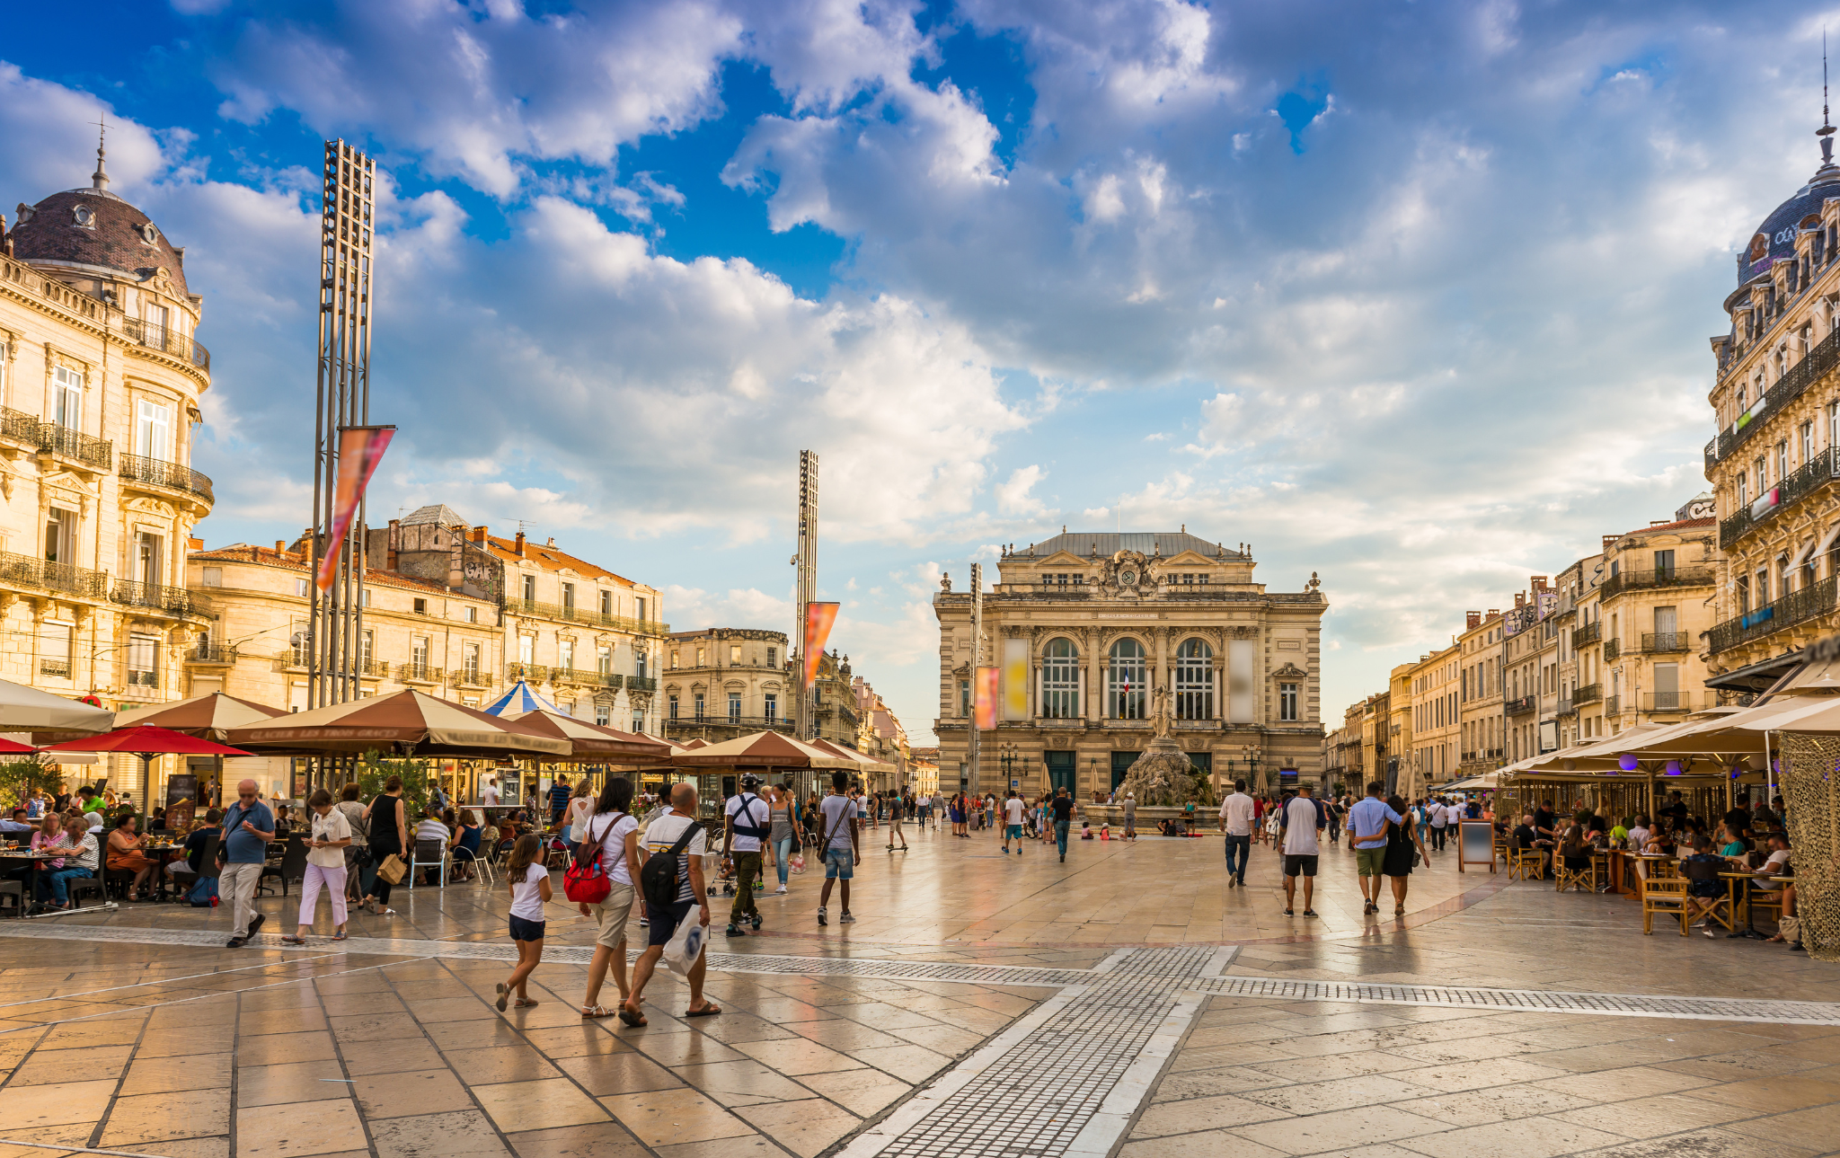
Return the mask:
<svg viewBox="0 0 1840 1158">
<path fill-rule="evenodd" d="M 103 160 L 0 215 L 0 677 L 121 707 L 177 698 L 184 665 L 215 657 L 184 585 L 212 377 L 184 249 Z M 138 777 L 132 758 L 112 775 Z"/>
</svg>

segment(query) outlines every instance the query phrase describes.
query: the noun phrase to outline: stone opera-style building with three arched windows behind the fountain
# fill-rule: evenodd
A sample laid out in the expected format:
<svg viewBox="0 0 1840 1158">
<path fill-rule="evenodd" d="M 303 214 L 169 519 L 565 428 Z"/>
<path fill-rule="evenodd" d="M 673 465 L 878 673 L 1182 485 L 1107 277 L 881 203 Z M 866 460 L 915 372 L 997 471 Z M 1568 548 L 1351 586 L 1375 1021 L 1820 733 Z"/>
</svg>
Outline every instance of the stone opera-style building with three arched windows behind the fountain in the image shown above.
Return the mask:
<svg viewBox="0 0 1840 1158">
<path fill-rule="evenodd" d="M 1323 773 L 1321 617 L 1312 578 L 1275 593 L 1248 549 L 1183 532 L 1060 534 L 1003 552 L 972 639 L 972 596 L 949 576 L 940 624 L 940 779 L 968 777 L 972 668 L 1021 672 L 1019 711 L 981 733 L 984 790 L 1067 786 L 1102 797 L 1152 738 L 1152 696 L 1170 698 L 1170 735 L 1214 786 L 1275 788 Z M 1010 689 L 1005 689 L 1010 690 Z M 1006 698 L 1006 696 L 1005 696 Z M 999 753 L 1010 757 L 1008 770 Z"/>
</svg>

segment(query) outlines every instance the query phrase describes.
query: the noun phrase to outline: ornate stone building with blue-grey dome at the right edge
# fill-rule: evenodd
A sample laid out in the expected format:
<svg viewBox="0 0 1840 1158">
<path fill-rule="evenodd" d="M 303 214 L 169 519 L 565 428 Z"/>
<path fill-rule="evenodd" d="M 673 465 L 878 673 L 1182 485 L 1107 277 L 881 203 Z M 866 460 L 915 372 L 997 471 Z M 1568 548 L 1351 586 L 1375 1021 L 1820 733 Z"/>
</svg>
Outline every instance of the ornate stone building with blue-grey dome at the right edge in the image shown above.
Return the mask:
<svg viewBox="0 0 1840 1158">
<path fill-rule="evenodd" d="M 1823 110 L 1825 112 L 1825 110 Z M 1719 434 L 1706 477 L 1724 552 L 1719 622 L 1700 639 L 1708 685 L 1772 685 L 1809 641 L 1840 628 L 1840 166 L 1822 162 L 1737 254 L 1731 328 L 1711 339 Z"/>
</svg>

